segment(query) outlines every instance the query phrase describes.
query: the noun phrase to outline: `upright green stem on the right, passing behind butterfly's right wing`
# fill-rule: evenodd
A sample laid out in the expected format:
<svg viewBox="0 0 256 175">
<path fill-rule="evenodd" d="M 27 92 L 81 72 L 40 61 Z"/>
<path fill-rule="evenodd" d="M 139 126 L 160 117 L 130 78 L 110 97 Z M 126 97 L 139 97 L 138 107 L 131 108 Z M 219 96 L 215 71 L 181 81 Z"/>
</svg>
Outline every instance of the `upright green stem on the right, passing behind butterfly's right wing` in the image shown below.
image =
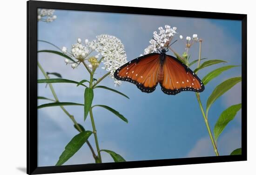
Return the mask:
<svg viewBox="0 0 256 175">
<path fill-rule="evenodd" d="M 201 60 L 201 48 L 202 48 L 202 39 L 199 40 L 199 58 L 198 58 L 198 65 L 197 65 L 197 68 L 200 66 L 200 60 Z M 204 113 L 204 110 L 203 110 L 203 107 L 202 107 L 202 102 L 201 102 L 201 99 L 200 99 L 200 93 L 195 93 L 196 95 L 196 99 L 198 101 L 198 104 L 200 106 L 200 109 L 201 109 L 201 112 L 202 112 L 202 116 L 203 116 L 203 119 L 204 119 L 204 123 L 207 127 L 207 130 L 208 130 L 208 133 L 209 133 L 209 137 L 211 139 L 211 142 L 212 142 L 212 146 L 214 148 L 214 152 L 216 154 L 216 156 L 219 156 L 219 152 L 218 152 L 218 149 L 217 149 L 217 146 L 216 146 L 216 143 L 214 141 L 214 138 L 212 136 L 212 132 L 211 132 L 211 129 L 210 129 L 210 126 L 209 126 L 209 122 L 208 122 L 208 118 L 207 116 L 205 115 Z"/>
</svg>

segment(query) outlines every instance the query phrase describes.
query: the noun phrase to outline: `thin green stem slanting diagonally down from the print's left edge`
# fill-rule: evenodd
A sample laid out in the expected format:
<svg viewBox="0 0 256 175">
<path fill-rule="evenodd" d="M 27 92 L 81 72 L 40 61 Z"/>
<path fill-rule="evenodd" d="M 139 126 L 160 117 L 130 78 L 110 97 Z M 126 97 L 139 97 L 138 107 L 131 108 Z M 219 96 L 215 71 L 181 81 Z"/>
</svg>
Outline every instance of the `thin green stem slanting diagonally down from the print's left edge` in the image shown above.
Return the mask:
<svg viewBox="0 0 256 175">
<path fill-rule="evenodd" d="M 49 76 L 46 74 L 46 72 L 45 72 L 44 69 L 42 68 L 41 64 L 40 64 L 39 62 L 37 62 L 37 65 L 38 65 L 39 69 L 41 70 L 41 72 L 43 73 L 43 75 L 45 76 L 45 78 L 46 78 L 46 79 L 49 79 Z M 53 85 L 52 85 L 51 83 L 48 83 L 48 85 L 49 85 L 49 87 L 50 87 L 50 89 L 51 89 L 51 91 L 52 91 L 52 94 L 54 95 L 54 99 L 56 100 L 56 102 L 58 102 L 59 99 L 58 99 L 58 97 L 57 97 L 57 95 L 56 95 L 56 93 L 55 93 L 55 91 L 54 91 Z M 76 120 L 74 119 L 74 116 L 71 115 L 70 113 L 68 113 L 67 110 L 66 110 L 63 106 L 60 106 L 60 107 L 61 107 L 61 109 L 63 110 L 63 112 L 66 113 L 67 116 L 73 121 L 73 123 L 74 123 L 74 125 L 77 127 L 77 129 L 78 129 L 80 132 L 82 132 L 81 127 L 78 125 L 78 123 L 77 123 Z M 93 154 L 94 159 L 96 159 L 97 156 L 95 155 L 95 152 L 94 152 L 94 149 L 93 149 L 92 145 L 90 144 L 89 141 L 86 141 L 86 143 L 88 144 L 88 147 L 90 148 L 90 150 L 91 150 L 91 152 L 92 152 L 92 154 Z"/>
</svg>

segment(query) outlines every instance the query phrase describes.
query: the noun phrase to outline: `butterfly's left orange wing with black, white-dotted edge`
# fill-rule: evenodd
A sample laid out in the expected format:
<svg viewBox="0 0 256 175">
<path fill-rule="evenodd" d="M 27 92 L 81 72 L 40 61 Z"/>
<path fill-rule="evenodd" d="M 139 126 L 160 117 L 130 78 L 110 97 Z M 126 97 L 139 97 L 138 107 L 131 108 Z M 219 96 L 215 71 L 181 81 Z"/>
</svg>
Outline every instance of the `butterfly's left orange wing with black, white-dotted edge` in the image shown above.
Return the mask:
<svg viewBox="0 0 256 175">
<path fill-rule="evenodd" d="M 134 83 L 142 92 L 151 93 L 158 84 L 159 56 L 152 53 L 138 57 L 117 69 L 114 76 L 117 80 Z"/>
</svg>

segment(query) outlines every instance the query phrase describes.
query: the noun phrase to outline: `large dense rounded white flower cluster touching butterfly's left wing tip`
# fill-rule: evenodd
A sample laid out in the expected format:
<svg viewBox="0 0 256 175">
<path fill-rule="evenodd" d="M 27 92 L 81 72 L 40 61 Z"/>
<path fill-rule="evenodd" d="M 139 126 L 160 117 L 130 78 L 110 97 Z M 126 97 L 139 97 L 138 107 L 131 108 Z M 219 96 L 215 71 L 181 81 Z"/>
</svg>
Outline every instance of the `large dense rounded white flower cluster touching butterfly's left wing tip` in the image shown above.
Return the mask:
<svg viewBox="0 0 256 175">
<path fill-rule="evenodd" d="M 102 69 L 110 71 L 110 77 L 114 79 L 115 86 L 120 85 L 121 81 L 115 79 L 114 73 L 116 69 L 127 63 L 127 56 L 121 40 L 115 36 L 99 35 L 97 36 L 96 51 L 103 56 L 104 67 Z"/>
</svg>

